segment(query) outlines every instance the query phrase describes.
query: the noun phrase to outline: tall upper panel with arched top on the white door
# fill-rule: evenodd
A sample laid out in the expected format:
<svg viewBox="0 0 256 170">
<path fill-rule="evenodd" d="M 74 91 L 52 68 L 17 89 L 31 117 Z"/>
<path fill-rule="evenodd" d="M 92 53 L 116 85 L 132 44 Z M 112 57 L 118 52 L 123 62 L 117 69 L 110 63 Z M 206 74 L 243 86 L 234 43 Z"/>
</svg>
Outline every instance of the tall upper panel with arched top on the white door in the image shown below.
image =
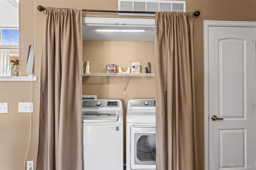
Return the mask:
<svg viewBox="0 0 256 170">
<path fill-rule="evenodd" d="M 224 39 L 218 44 L 220 117 L 244 118 L 245 41 Z"/>
</svg>

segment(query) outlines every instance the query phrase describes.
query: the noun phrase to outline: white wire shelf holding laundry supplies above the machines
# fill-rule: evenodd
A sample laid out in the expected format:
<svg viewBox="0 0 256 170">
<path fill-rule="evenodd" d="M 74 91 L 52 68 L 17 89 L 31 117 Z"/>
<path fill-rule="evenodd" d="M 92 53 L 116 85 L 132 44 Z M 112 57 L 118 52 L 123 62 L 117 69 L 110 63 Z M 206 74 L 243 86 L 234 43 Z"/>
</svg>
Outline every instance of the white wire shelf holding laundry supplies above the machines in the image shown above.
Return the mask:
<svg viewBox="0 0 256 170">
<path fill-rule="evenodd" d="M 83 73 L 83 76 L 154 77 L 154 73 Z"/>
</svg>

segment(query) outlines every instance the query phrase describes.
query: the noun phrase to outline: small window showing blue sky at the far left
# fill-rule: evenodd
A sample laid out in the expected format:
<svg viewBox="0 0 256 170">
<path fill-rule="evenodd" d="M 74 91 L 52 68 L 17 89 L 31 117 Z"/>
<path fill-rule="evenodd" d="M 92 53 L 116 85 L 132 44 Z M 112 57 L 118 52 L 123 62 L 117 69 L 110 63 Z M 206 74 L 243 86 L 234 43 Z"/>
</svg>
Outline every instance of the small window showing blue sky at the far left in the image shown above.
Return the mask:
<svg viewBox="0 0 256 170">
<path fill-rule="evenodd" d="M 1 29 L 0 45 L 19 45 L 19 30 Z"/>
</svg>

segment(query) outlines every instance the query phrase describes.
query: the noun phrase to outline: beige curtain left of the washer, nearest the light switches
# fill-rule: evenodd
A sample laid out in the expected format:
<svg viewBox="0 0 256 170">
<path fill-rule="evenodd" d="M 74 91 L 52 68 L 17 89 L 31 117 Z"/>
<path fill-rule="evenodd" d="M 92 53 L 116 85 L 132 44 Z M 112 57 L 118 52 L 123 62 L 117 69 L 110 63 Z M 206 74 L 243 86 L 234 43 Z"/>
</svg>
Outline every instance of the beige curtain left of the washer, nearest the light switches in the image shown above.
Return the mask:
<svg viewBox="0 0 256 170">
<path fill-rule="evenodd" d="M 82 10 L 46 8 L 37 170 L 82 169 Z"/>
</svg>

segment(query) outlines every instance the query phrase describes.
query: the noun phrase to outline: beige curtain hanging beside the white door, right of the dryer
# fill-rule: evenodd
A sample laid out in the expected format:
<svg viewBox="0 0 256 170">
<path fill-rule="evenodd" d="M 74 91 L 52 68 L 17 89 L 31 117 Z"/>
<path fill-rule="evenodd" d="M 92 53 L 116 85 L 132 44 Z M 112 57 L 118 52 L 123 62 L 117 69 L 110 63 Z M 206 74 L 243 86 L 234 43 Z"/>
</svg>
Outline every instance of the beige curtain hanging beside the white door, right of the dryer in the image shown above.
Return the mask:
<svg viewBox="0 0 256 170">
<path fill-rule="evenodd" d="M 199 170 L 193 13 L 156 12 L 156 168 Z"/>
</svg>

